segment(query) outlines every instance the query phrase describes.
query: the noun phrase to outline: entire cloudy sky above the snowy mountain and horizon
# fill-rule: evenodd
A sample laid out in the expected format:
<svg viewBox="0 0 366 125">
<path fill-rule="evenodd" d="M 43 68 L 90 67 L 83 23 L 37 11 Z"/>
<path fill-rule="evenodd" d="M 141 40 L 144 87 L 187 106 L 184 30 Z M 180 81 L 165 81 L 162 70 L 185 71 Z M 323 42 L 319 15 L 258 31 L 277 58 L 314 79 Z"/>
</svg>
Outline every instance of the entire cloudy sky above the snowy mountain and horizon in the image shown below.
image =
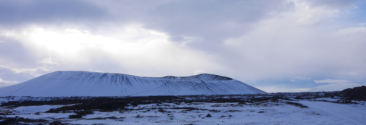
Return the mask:
<svg viewBox="0 0 366 125">
<path fill-rule="evenodd" d="M 54 71 L 366 84 L 364 0 L 1 0 L 0 87 Z"/>
</svg>

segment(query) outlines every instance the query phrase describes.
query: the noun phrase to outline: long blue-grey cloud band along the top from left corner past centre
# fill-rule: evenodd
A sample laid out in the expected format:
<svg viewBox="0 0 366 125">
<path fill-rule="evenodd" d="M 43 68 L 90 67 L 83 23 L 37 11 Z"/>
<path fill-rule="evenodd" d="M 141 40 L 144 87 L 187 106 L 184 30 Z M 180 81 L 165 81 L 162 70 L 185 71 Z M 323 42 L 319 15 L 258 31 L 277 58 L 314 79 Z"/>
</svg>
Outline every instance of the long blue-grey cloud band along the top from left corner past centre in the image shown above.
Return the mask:
<svg viewBox="0 0 366 125">
<path fill-rule="evenodd" d="M 0 1 L 2 26 L 36 23 L 81 23 L 104 27 L 103 23 L 140 22 L 146 28 L 172 36 L 200 37 L 222 42 L 238 37 L 269 12 L 289 11 L 293 3 L 273 1 Z"/>
</svg>

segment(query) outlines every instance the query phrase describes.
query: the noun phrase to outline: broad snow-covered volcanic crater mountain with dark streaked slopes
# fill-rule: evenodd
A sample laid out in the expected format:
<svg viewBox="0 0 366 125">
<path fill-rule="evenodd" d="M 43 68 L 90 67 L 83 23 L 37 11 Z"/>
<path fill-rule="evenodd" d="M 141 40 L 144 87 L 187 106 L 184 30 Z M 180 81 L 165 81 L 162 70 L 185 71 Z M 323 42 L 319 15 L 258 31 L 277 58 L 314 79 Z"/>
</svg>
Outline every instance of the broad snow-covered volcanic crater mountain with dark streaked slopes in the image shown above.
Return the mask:
<svg viewBox="0 0 366 125">
<path fill-rule="evenodd" d="M 229 77 L 199 74 L 139 77 L 120 73 L 56 71 L 0 88 L 0 96 L 148 96 L 202 94 L 264 94 Z"/>
</svg>

